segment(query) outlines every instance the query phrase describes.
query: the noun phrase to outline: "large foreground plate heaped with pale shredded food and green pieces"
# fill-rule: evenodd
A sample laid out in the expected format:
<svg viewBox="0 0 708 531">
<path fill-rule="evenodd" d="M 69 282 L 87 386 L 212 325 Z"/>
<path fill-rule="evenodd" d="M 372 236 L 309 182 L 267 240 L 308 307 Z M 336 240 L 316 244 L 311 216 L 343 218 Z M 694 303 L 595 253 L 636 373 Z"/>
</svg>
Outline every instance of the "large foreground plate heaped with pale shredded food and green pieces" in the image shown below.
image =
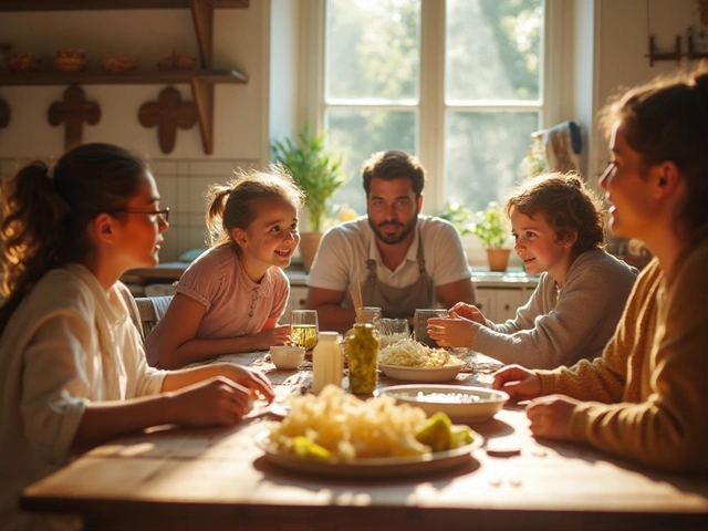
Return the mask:
<svg viewBox="0 0 708 531">
<path fill-rule="evenodd" d="M 266 461 L 330 477 L 409 476 L 464 465 L 482 446 L 468 426 L 388 396 L 362 400 L 329 385 L 289 398 L 290 413 L 256 437 Z"/>
</svg>

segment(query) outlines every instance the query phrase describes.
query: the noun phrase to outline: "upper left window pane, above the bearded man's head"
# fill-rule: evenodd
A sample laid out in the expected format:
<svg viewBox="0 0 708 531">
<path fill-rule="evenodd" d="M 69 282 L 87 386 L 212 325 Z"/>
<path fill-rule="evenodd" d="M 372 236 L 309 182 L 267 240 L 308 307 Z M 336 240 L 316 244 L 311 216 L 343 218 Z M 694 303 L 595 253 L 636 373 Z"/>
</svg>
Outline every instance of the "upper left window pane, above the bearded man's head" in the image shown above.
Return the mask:
<svg viewBox="0 0 708 531">
<path fill-rule="evenodd" d="M 325 97 L 418 98 L 420 0 L 329 0 Z"/>
</svg>

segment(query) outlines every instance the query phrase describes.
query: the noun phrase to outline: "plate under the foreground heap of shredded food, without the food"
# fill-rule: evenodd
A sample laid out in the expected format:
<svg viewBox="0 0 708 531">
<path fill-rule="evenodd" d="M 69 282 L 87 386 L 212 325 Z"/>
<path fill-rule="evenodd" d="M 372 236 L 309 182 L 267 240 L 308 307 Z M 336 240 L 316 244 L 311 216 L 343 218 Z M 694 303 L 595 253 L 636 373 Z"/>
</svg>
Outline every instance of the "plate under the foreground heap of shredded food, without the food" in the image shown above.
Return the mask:
<svg viewBox="0 0 708 531">
<path fill-rule="evenodd" d="M 295 472 L 332 478 L 416 476 L 438 472 L 464 465 L 470 459 L 470 452 L 480 448 L 485 441 L 481 435 L 472 431 L 475 440 L 454 450 L 436 451 L 418 457 L 382 457 L 345 462 L 316 461 L 278 451 L 269 445 L 269 435 L 270 430 L 266 429 L 256 436 L 256 445 L 264 451 L 263 457 L 268 462 Z"/>
</svg>

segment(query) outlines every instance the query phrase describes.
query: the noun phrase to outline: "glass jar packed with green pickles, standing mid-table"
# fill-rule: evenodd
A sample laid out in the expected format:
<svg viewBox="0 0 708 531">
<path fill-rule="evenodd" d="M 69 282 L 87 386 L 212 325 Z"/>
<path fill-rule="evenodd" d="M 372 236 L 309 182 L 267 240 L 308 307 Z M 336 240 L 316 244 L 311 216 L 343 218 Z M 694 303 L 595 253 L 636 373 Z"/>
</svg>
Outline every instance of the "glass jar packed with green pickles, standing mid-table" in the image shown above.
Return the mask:
<svg viewBox="0 0 708 531">
<path fill-rule="evenodd" d="M 350 363 L 350 391 L 356 394 L 376 389 L 381 335 L 371 323 L 356 323 L 346 336 Z"/>
</svg>

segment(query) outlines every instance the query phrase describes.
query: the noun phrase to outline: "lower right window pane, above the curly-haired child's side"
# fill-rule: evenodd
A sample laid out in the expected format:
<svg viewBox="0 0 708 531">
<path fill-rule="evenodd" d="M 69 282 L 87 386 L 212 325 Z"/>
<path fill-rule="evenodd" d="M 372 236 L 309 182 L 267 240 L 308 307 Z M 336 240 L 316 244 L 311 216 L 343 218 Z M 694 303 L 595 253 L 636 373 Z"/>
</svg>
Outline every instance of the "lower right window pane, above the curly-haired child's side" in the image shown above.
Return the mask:
<svg viewBox="0 0 708 531">
<path fill-rule="evenodd" d="M 445 131 L 446 198 L 472 211 L 503 202 L 523 178 L 523 158 L 539 113 L 448 112 Z"/>
</svg>

